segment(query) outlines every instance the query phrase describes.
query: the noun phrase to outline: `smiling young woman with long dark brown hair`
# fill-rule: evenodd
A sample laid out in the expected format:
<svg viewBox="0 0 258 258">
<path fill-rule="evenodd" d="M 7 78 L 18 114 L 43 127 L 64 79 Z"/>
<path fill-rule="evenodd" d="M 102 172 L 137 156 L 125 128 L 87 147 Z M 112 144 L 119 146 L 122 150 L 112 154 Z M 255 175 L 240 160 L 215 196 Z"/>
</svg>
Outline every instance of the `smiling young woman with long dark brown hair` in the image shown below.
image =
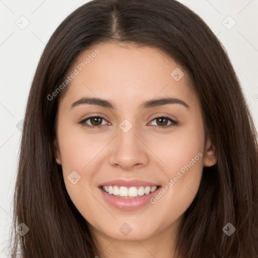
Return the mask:
<svg viewBox="0 0 258 258">
<path fill-rule="evenodd" d="M 199 16 L 172 0 L 89 2 L 32 82 L 12 256 L 258 257 L 257 154 Z"/>
</svg>

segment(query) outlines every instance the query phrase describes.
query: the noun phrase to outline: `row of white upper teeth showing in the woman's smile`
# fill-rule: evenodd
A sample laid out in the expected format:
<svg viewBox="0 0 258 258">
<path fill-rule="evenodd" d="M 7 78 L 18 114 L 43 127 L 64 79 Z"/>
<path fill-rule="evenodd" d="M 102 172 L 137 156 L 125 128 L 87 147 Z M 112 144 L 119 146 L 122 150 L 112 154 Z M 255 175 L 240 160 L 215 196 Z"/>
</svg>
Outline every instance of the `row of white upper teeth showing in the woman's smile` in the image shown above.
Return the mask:
<svg viewBox="0 0 258 258">
<path fill-rule="evenodd" d="M 117 185 L 104 185 L 102 188 L 104 191 L 108 192 L 109 195 L 119 197 L 137 197 L 143 196 L 144 194 L 149 195 L 149 193 L 157 189 L 157 186 L 140 186 L 139 188 L 132 186 L 127 188 L 125 186 L 118 187 Z"/>
</svg>

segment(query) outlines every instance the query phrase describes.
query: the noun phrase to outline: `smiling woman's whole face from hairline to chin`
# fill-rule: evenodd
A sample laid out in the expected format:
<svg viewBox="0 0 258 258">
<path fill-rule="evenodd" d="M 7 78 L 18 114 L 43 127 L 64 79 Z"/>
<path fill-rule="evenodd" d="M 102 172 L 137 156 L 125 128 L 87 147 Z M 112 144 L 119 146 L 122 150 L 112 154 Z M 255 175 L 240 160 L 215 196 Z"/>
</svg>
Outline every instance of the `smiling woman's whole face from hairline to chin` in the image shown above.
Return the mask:
<svg viewBox="0 0 258 258">
<path fill-rule="evenodd" d="M 186 72 L 158 49 L 105 43 L 72 73 L 54 145 L 74 205 L 102 238 L 175 233 L 216 162 Z"/>
</svg>

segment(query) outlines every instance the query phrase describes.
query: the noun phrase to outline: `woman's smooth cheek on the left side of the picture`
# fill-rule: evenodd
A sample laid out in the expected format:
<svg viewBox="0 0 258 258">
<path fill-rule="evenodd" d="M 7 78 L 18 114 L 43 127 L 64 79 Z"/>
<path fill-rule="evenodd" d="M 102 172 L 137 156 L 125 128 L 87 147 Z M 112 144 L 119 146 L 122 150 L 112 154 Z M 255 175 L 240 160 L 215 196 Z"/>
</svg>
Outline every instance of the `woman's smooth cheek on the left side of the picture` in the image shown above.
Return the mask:
<svg viewBox="0 0 258 258">
<path fill-rule="evenodd" d="M 71 126 L 59 122 L 58 142 L 61 154 L 61 165 L 64 184 L 68 194 L 77 208 L 86 207 L 90 195 L 90 183 L 96 164 L 100 142 L 84 134 L 81 126 Z M 87 201 L 88 200 L 88 201 Z M 94 205 L 94 204 L 93 204 Z"/>
</svg>

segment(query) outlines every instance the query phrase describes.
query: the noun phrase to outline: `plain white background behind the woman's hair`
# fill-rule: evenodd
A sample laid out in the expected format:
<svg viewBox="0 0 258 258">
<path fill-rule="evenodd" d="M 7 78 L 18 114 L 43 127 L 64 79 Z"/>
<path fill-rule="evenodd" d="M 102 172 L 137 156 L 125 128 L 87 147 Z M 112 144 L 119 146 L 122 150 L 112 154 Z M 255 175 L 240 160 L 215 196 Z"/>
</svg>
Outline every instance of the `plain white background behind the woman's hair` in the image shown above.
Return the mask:
<svg viewBox="0 0 258 258">
<path fill-rule="evenodd" d="M 31 81 L 39 57 L 51 34 L 62 20 L 86 2 L 88 1 L 0 0 L 1 258 L 8 257 L 7 244 L 12 222 L 11 205 L 21 142 L 21 132 L 17 124 L 19 125 L 24 117 Z M 179 2 L 200 15 L 225 46 L 258 128 L 258 1 Z M 26 18 L 20 18 L 21 16 Z M 236 22 L 230 30 L 224 26 L 225 23 L 228 23 L 226 26 L 233 24 L 233 20 L 227 18 L 228 16 Z M 24 25 L 26 19 L 29 25 L 22 30 L 16 23 Z"/>
</svg>

